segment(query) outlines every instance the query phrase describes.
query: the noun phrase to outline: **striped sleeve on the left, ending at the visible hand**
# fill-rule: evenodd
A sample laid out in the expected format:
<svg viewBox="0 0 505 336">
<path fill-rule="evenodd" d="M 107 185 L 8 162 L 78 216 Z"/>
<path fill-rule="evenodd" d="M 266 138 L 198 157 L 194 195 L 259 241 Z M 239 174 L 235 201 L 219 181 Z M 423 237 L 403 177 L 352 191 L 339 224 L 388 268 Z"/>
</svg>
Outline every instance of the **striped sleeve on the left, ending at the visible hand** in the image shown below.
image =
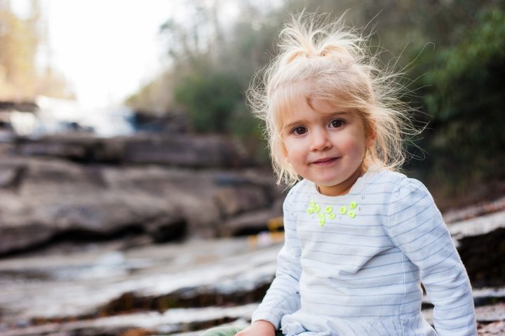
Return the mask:
<svg viewBox="0 0 505 336">
<path fill-rule="evenodd" d="M 258 309 L 253 313 L 252 321 L 265 320 L 280 328 L 281 319 L 299 309 L 299 257 L 300 248 L 296 232 L 297 212 L 292 206 L 291 189 L 283 203 L 284 213 L 284 246 L 277 257 L 276 277 L 272 282 Z"/>
</svg>

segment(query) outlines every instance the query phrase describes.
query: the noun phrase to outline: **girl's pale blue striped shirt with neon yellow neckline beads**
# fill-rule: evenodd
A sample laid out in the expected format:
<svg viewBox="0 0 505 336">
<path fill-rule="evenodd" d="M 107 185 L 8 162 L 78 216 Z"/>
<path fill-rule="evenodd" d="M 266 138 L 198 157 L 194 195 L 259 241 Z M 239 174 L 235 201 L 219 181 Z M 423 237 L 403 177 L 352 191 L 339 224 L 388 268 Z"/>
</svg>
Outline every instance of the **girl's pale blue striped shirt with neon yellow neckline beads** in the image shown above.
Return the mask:
<svg viewBox="0 0 505 336">
<path fill-rule="evenodd" d="M 325 196 L 302 180 L 283 211 L 276 278 L 253 322 L 285 335 L 477 335 L 469 278 L 421 182 L 369 171 L 348 194 Z"/>
</svg>

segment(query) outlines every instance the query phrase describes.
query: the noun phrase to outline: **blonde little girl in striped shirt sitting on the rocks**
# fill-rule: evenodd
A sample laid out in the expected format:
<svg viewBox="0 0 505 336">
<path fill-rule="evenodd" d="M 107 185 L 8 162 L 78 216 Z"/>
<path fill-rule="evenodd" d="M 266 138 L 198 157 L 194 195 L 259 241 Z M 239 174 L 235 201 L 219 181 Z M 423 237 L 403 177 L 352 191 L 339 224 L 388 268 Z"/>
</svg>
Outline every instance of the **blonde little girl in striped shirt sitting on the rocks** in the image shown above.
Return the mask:
<svg viewBox="0 0 505 336">
<path fill-rule="evenodd" d="M 342 20 L 318 22 L 287 25 L 264 89 L 250 90 L 279 182 L 296 183 L 276 278 L 250 327 L 204 335 L 477 335 L 469 278 L 431 194 L 395 172 L 399 86 Z"/>
</svg>

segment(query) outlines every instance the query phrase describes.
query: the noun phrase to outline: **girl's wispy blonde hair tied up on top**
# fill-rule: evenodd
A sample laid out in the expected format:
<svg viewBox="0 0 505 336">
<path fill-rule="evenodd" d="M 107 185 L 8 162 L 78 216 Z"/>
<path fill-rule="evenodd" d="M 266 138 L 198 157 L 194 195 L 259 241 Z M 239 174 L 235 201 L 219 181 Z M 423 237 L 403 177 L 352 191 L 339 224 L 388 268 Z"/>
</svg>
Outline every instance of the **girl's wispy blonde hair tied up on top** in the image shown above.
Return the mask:
<svg viewBox="0 0 505 336">
<path fill-rule="evenodd" d="M 328 15 L 302 13 L 292 17 L 279 35 L 279 53 L 257 72 L 248 89 L 253 113 L 265 122 L 277 182 L 288 186 L 299 175 L 285 159 L 282 116 L 300 95 L 324 99 L 358 112 L 365 131 L 376 140 L 367 150 L 364 166 L 398 170 L 405 161 L 405 130 L 412 109 L 398 99 L 403 86 L 391 69 L 379 69 L 368 38 L 345 27 L 343 16 L 328 23 Z"/>
</svg>

